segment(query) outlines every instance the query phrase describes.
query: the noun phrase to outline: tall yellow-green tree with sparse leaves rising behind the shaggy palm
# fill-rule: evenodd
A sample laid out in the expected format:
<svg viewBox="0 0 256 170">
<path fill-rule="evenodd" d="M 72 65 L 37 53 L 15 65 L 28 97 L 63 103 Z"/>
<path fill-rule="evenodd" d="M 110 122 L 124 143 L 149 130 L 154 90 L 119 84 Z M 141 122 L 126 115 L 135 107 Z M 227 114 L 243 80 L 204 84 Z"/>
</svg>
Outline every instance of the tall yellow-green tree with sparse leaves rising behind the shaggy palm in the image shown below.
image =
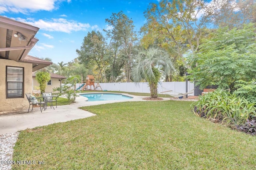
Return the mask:
<svg viewBox="0 0 256 170">
<path fill-rule="evenodd" d="M 164 39 L 169 47 L 186 62 L 186 53 L 196 53 L 204 29 L 209 23 L 210 14 L 205 13 L 206 3 L 202 0 L 161 0 L 158 4 L 150 3 L 144 12 L 147 23 L 142 28 L 146 32 L 142 43 Z M 147 45 L 146 45 L 147 46 Z"/>
</svg>

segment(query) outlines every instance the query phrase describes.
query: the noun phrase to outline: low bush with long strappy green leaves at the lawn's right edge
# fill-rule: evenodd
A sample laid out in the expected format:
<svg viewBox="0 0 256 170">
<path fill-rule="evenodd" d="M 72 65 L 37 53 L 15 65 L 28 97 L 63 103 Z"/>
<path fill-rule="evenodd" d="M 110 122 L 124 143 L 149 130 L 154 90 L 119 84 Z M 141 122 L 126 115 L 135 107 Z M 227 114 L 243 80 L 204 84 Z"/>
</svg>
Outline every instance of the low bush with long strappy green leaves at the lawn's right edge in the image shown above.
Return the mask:
<svg viewBox="0 0 256 170">
<path fill-rule="evenodd" d="M 243 125 L 247 120 L 256 117 L 255 102 L 250 103 L 243 97 L 227 90 L 217 89 L 199 97 L 192 104 L 196 115 L 206 119 L 217 119 L 222 123 Z"/>
</svg>

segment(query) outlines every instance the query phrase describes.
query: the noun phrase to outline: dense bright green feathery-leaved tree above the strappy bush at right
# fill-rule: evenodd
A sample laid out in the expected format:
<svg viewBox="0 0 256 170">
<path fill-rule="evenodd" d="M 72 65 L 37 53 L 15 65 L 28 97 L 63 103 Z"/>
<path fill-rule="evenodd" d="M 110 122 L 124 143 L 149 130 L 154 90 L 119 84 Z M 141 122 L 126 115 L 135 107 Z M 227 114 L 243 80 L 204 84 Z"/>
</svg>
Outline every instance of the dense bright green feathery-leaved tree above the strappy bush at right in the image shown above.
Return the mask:
<svg viewBox="0 0 256 170">
<path fill-rule="evenodd" d="M 190 78 L 204 88 L 218 85 L 235 90 L 236 81 L 246 82 L 256 74 L 256 28 L 252 23 L 242 29 L 220 28 L 200 45 L 200 53 L 192 57 L 194 67 Z"/>
</svg>

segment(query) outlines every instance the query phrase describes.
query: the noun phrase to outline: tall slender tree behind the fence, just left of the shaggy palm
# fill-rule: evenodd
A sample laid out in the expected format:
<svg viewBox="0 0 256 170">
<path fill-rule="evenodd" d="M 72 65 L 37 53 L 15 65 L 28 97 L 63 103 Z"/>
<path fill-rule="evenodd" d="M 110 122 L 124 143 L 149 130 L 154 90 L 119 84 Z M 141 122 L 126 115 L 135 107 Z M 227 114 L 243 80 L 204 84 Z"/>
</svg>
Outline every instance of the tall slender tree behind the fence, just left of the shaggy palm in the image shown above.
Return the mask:
<svg viewBox="0 0 256 170">
<path fill-rule="evenodd" d="M 106 31 L 107 37 L 110 38 L 110 45 L 114 47 L 113 60 L 116 60 L 118 53 L 124 53 L 126 81 L 130 82 L 134 45 L 138 40 L 136 32 L 134 31 L 133 21 L 120 11 L 117 14 L 112 13 L 112 16 L 106 19 L 106 23 L 112 27 L 112 29 L 104 29 L 104 31 Z M 113 62 L 113 64 L 114 63 L 115 62 Z"/>
</svg>

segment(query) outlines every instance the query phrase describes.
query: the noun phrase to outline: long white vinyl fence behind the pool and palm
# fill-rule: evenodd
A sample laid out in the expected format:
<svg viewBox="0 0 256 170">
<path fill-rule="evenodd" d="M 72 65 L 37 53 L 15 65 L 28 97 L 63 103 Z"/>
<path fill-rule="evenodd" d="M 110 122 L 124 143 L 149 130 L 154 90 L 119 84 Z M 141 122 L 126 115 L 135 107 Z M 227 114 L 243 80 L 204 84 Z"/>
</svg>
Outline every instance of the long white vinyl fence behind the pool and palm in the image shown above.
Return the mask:
<svg viewBox="0 0 256 170">
<path fill-rule="evenodd" d="M 108 91 L 122 91 L 122 92 L 139 92 L 139 93 L 150 93 L 148 87 L 148 82 L 140 83 L 99 83 L 102 90 Z M 96 87 L 97 83 L 95 83 Z M 76 88 L 81 86 L 76 84 Z M 90 88 L 90 87 L 89 87 Z M 92 90 L 94 88 L 92 87 Z M 96 88 L 96 90 L 101 90 Z M 170 95 L 179 95 L 186 94 L 186 82 L 159 82 L 158 83 L 158 93 L 160 94 L 170 94 Z M 194 96 L 194 83 L 188 82 L 188 96 Z"/>
</svg>

